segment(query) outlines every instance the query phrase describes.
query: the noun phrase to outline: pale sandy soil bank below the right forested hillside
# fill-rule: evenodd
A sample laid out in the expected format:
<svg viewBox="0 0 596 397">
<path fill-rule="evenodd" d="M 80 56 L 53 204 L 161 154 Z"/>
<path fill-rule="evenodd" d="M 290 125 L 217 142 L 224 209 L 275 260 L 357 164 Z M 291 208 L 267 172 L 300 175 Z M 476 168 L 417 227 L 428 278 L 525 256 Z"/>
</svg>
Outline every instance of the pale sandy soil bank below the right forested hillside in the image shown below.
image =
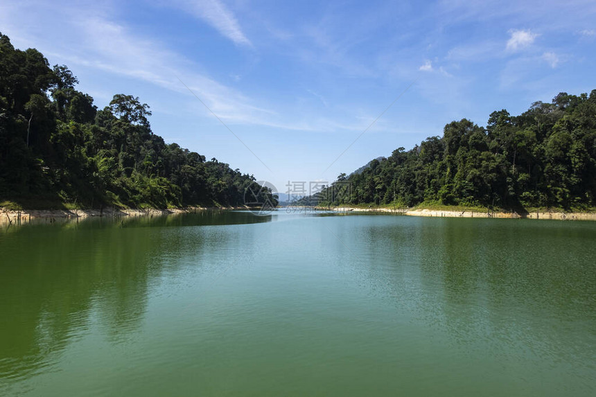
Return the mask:
<svg viewBox="0 0 596 397">
<path fill-rule="evenodd" d="M 372 213 L 398 213 L 411 216 L 430 216 L 434 218 L 526 218 L 526 219 L 547 219 L 547 220 L 596 220 L 596 213 L 566 213 L 566 212 L 532 212 L 518 214 L 516 212 L 478 212 L 478 211 L 446 211 L 435 209 L 389 209 L 371 208 L 362 209 L 348 206 L 335 208 L 321 208 L 326 211 L 338 213 L 348 212 L 372 212 Z"/>
</svg>

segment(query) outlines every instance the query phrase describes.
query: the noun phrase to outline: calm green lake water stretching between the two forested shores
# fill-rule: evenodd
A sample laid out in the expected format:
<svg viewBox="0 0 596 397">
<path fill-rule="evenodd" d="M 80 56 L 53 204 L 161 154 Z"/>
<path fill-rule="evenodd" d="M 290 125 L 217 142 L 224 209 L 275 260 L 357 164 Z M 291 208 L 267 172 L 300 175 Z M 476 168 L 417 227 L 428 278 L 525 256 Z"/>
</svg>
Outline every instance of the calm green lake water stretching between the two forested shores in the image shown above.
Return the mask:
<svg viewBox="0 0 596 397">
<path fill-rule="evenodd" d="M 4 227 L 0 395 L 595 396 L 596 222 Z"/>
</svg>

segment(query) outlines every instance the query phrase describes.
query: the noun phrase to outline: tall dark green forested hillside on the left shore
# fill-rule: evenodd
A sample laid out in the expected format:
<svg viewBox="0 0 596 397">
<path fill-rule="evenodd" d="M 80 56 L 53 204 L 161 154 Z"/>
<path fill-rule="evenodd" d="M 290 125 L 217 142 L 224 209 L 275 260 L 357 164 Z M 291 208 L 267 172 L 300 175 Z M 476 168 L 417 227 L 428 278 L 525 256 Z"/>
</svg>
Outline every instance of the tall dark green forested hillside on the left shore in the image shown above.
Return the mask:
<svg viewBox="0 0 596 397">
<path fill-rule="evenodd" d="M 77 84 L 67 67 L 51 69 L 39 51 L 15 49 L 0 33 L 0 203 L 243 204 L 252 175 L 165 143 L 139 98 L 114 95 L 98 110 Z"/>
</svg>

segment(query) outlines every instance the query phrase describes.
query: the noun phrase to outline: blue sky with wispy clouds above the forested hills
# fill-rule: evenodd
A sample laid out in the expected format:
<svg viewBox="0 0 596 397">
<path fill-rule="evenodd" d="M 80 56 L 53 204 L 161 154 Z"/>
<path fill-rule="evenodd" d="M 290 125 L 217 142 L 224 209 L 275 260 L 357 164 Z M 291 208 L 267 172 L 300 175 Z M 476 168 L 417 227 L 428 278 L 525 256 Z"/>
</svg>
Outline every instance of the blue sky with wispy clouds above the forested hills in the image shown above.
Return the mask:
<svg viewBox="0 0 596 397">
<path fill-rule="evenodd" d="M 596 89 L 595 21 L 593 0 L 0 2 L 0 32 L 67 64 L 98 107 L 139 96 L 166 142 L 280 192 Z"/>
</svg>

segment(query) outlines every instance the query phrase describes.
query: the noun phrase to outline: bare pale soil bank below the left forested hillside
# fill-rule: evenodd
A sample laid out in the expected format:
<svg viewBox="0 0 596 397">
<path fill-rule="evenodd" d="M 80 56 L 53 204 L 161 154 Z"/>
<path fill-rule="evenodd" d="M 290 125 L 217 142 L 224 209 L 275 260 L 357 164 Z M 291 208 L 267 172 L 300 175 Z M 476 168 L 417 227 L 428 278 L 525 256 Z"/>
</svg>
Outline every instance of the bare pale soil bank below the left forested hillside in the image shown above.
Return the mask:
<svg viewBox="0 0 596 397">
<path fill-rule="evenodd" d="M 245 207 L 189 207 L 186 209 L 55 209 L 55 210 L 34 210 L 27 209 L 21 211 L 0 209 L 0 224 L 16 224 L 19 222 L 29 222 L 33 219 L 45 218 L 55 220 L 57 218 L 89 218 L 89 217 L 107 217 L 117 218 L 123 216 L 151 216 L 151 215 L 170 215 L 175 213 L 189 213 L 206 209 L 245 209 Z"/>
</svg>

